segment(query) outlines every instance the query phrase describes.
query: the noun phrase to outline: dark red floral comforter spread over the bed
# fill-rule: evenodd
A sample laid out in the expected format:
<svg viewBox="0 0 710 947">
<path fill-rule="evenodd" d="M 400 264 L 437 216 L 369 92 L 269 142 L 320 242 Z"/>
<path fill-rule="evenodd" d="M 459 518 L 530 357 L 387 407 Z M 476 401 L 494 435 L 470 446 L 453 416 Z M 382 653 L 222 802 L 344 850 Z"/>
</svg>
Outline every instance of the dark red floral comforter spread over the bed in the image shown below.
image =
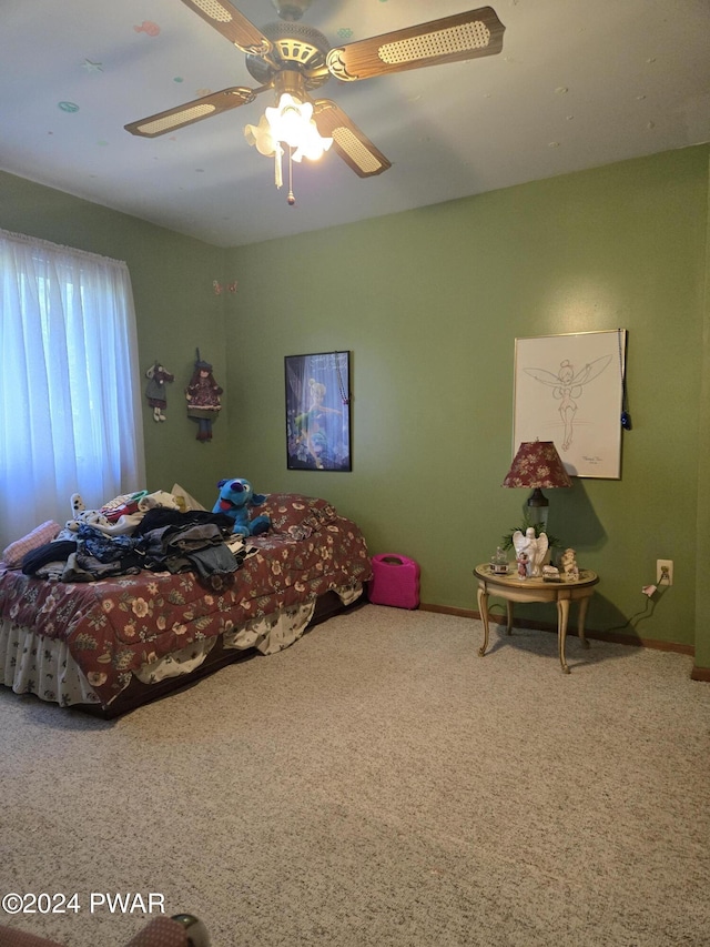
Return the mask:
<svg viewBox="0 0 710 947">
<path fill-rule="evenodd" d="M 326 501 L 270 494 L 258 512 L 272 530 L 250 540 L 256 552 L 235 573 L 211 583 L 144 571 L 75 584 L 0 567 L 0 616 L 63 641 L 106 705 L 145 664 L 371 577 L 362 532 Z"/>
</svg>

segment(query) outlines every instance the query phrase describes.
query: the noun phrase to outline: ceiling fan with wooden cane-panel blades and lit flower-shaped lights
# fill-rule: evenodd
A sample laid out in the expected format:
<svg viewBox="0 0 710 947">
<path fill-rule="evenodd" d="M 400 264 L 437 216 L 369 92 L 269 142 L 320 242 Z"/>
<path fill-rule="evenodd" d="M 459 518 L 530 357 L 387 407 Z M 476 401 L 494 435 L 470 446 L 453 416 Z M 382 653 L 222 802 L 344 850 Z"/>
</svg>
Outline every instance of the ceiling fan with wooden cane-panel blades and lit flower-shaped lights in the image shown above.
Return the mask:
<svg viewBox="0 0 710 947">
<path fill-rule="evenodd" d="M 494 56 L 503 49 L 505 31 L 496 12 L 490 7 L 481 7 L 332 49 L 323 33 L 297 22 L 312 0 L 272 0 L 281 22 L 268 23 L 262 29 L 255 27 L 230 0 L 182 2 L 246 54 L 246 68 L 261 84 L 254 89 L 233 85 L 211 92 L 131 122 L 125 125 L 126 131 L 156 138 L 246 105 L 260 93 L 273 90 L 276 108 L 267 109 L 258 125 L 247 125 L 245 134 L 263 154 L 276 157 L 278 187 L 282 141 L 290 145 L 290 158 L 294 160 L 320 157 L 332 144 L 361 178 L 381 174 L 392 167 L 335 102 L 311 98 L 314 89 L 333 77 L 343 82 L 355 82 L 407 69 Z M 303 128 L 307 127 L 308 142 L 304 143 L 302 137 L 298 141 L 304 143 L 303 148 L 296 148 L 295 152 L 295 139 L 290 140 L 286 131 L 277 130 L 277 122 L 282 119 L 286 124 L 298 119 L 305 122 Z M 293 191 L 288 202 L 294 203 Z"/>
</svg>

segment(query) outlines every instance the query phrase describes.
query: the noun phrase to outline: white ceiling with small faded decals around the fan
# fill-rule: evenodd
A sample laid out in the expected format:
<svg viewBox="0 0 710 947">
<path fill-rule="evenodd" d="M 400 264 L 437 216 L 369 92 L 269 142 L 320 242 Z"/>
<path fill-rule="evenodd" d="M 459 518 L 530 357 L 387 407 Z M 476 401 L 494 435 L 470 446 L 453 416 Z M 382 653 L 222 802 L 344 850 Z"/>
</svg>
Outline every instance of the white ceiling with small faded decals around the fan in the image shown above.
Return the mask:
<svg viewBox="0 0 710 947">
<path fill-rule="evenodd" d="M 258 27 L 277 20 L 270 0 L 233 2 Z M 313 0 L 302 22 L 337 46 L 477 6 Z M 243 135 L 270 94 L 159 139 L 124 131 L 257 85 L 180 0 L 1 0 L 0 169 L 235 246 L 710 141 L 708 0 L 490 6 L 499 56 L 318 90 L 393 167 L 363 180 L 334 152 L 294 165 L 292 208 Z"/>
</svg>

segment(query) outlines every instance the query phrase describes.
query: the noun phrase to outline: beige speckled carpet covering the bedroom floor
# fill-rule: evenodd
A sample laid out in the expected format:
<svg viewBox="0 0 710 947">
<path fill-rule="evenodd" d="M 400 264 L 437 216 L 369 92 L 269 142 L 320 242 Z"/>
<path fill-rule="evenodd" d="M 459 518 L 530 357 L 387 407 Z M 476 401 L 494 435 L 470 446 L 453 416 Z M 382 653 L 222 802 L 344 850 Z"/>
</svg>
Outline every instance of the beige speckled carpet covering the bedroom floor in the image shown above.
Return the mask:
<svg viewBox="0 0 710 947">
<path fill-rule="evenodd" d="M 710 943 L 710 685 L 691 658 L 367 605 L 113 723 L 0 693 L 3 920 L 122 945 Z"/>
</svg>

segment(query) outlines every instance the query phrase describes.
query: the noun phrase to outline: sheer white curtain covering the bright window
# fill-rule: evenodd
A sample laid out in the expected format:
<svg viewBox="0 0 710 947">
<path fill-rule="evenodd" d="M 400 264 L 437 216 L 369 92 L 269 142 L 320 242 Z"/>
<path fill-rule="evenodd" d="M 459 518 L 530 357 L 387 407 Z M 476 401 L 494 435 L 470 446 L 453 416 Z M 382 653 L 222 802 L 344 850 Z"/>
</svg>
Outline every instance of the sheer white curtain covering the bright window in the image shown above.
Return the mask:
<svg viewBox="0 0 710 947">
<path fill-rule="evenodd" d="M 128 266 L 0 230 L 0 552 L 144 477 Z"/>
</svg>

